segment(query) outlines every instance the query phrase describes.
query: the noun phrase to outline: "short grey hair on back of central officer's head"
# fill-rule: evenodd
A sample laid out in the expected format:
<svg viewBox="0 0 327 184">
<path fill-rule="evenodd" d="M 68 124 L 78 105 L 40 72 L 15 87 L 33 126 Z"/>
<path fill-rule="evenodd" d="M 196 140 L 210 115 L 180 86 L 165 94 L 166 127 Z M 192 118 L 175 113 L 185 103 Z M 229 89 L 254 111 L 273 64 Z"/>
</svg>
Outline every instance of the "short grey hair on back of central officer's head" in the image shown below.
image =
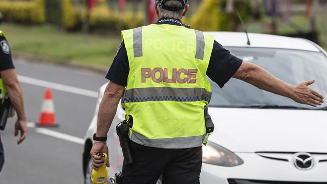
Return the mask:
<svg viewBox="0 0 327 184">
<path fill-rule="evenodd" d="M 176 8 L 182 8 L 183 5 L 179 1 L 169 1 L 165 3 L 165 6 L 167 7 L 176 7 Z M 173 12 L 173 11 L 168 11 L 165 9 L 160 8 L 157 5 L 158 11 L 159 11 L 159 17 L 160 18 L 165 18 L 165 19 L 180 19 L 183 16 L 183 13 L 185 9 Z"/>
</svg>

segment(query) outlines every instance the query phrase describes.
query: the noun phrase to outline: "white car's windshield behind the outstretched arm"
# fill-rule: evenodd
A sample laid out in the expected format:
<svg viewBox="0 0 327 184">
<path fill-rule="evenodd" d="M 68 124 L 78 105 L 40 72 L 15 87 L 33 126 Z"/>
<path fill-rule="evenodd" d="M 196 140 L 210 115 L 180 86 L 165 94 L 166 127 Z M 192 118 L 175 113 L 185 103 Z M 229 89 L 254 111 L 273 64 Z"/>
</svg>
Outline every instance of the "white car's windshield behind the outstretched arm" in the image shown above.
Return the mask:
<svg viewBox="0 0 327 184">
<path fill-rule="evenodd" d="M 327 57 L 322 52 L 274 48 L 229 47 L 233 55 L 257 64 L 281 80 L 296 85 L 315 79 L 310 87 L 327 97 Z M 211 81 L 211 107 L 320 109 L 295 103 L 293 100 L 261 90 L 231 78 L 223 88 Z"/>
</svg>

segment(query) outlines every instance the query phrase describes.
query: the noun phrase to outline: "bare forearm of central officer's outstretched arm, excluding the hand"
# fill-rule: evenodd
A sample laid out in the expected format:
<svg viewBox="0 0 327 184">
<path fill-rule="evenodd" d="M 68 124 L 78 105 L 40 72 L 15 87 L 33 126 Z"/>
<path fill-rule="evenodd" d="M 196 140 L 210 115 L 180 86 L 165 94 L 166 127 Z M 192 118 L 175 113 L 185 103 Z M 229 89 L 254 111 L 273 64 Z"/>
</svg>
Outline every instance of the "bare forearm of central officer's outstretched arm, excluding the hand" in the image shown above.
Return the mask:
<svg viewBox="0 0 327 184">
<path fill-rule="evenodd" d="M 271 93 L 293 98 L 293 85 L 283 82 L 258 65 L 243 61 L 233 77 Z"/>
</svg>

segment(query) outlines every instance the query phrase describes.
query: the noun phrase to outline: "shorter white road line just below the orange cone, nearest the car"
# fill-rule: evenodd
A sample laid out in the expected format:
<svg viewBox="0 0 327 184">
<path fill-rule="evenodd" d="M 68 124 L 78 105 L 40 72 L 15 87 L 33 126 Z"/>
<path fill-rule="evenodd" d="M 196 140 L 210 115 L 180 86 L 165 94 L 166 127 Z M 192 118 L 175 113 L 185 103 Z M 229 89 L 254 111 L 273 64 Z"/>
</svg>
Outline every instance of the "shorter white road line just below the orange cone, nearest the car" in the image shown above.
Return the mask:
<svg viewBox="0 0 327 184">
<path fill-rule="evenodd" d="M 53 130 L 49 130 L 46 128 L 36 128 L 35 131 L 37 133 L 48 135 L 48 136 L 55 137 L 58 139 L 62 139 L 62 140 L 66 140 L 66 141 L 70 141 L 70 142 L 74 142 L 74 143 L 82 144 L 82 145 L 84 144 L 84 139 L 82 139 L 82 138 L 64 134 L 64 133 L 57 132 L 57 131 L 53 131 Z"/>
</svg>

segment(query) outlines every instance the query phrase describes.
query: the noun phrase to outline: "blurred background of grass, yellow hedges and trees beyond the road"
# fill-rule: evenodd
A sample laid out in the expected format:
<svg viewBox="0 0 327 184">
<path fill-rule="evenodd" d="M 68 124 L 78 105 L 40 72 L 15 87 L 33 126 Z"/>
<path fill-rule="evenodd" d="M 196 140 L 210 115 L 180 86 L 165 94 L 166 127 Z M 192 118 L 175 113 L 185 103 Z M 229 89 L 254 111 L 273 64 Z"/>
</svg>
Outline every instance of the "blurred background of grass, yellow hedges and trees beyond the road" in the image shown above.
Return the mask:
<svg viewBox="0 0 327 184">
<path fill-rule="evenodd" d="M 14 53 L 56 63 L 109 66 L 120 31 L 148 24 L 147 0 L 0 0 L 0 26 Z M 124 3 L 122 9 L 121 2 Z M 190 0 L 183 23 L 201 31 L 243 31 L 310 39 L 327 48 L 327 0 Z M 28 36 L 26 36 L 28 35 Z"/>
</svg>

